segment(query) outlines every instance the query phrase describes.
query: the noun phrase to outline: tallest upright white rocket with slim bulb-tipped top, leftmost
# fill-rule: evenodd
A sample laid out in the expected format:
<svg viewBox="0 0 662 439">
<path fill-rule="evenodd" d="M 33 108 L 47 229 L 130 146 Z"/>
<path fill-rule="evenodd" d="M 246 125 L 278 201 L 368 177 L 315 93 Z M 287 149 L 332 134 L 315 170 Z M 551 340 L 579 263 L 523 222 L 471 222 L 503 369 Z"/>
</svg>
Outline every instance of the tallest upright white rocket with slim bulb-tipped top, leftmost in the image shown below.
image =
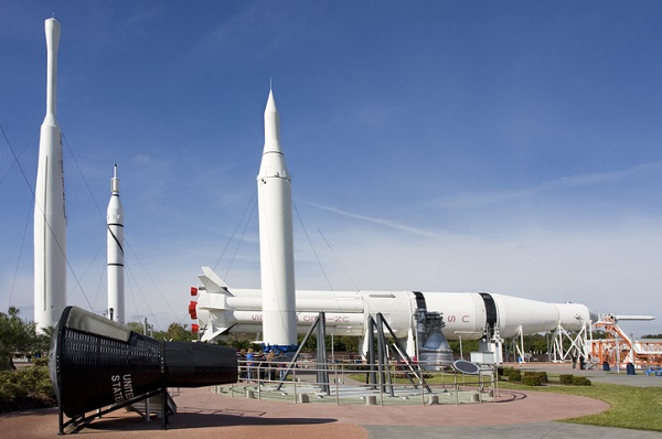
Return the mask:
<svg viewBox="0 0 662 439">
<path fill-rule="evenodd" d="M 45 22 L 46 117 L 41 126 L 34 189 L 34 322 L 38 332 L 53 326 L 66 306 L 66 211 L 62 132 L 57 124 L 60 23 Z"/>
</svg>

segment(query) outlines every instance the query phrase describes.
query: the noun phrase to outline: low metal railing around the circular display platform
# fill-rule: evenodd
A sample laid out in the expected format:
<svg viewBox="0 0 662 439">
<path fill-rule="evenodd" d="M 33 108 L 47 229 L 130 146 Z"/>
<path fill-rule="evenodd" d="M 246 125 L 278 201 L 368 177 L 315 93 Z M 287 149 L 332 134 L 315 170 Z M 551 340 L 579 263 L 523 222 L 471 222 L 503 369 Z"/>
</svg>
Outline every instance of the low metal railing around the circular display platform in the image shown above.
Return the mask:
<svg viewBox="0 0 662 439">
<path fill-rule="evenodd" d="M 266 360 L 239 360 L 239 381 L 214 386 L 217 393 L 233 397 L 302 403 L 434 405 L 470 404 L 493 400 L 499 396 L 496 371 L 490 366 L 468 375 L 441 367 L 408 366 L 389 362 L 289 363 Z M 423 368 L 440 368 L 424 371 Z"/>
</svg>

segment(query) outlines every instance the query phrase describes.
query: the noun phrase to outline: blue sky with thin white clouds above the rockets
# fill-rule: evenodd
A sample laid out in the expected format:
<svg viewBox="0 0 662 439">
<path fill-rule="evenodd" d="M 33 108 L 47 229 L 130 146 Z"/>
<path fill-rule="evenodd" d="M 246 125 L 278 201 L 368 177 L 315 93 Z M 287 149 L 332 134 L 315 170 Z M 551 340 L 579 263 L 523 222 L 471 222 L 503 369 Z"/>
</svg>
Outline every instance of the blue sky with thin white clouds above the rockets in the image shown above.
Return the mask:
<svg viewBox="0 0 662 439">
<path fill-rule="evenodd" d="M 0 308 L 28 318 L 53 13 L 70 303 L 106 307 L 114 163 L 128 318 L 190 323 L 203 265 L 259 286 L 271 81 L 298 287 L 574 301 L 662 332 L 662 3 L 1 0 Z"/>
</svg>

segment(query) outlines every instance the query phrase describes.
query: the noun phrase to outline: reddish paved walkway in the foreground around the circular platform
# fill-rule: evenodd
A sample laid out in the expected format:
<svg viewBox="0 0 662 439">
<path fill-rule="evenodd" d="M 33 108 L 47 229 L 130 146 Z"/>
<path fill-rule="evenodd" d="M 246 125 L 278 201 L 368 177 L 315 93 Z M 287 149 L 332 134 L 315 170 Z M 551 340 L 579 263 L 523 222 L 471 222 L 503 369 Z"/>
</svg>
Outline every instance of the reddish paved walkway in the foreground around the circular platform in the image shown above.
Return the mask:
<svg viewBox="0 0 662 439">
<path fill-rule="evenodd" d="M 559 370 L 555 368 L 555 372 Z M 579 374 L 579 371 L 576 373 Z M 612 379 L 611 374 L 598 373 L 604 375 L 602 378 Z M 634 379 L 643 378 L 645 376 L 623 374 L 613 379 L 632 379 L 634 383 Z M 645 384 L 653 379 L 645 381 Z M 81 429 L 77 435 L 118 439 L 182 438 L 193 435 L 242 439 L 263 435 L 269 439 L 662 438 L 659 432 L 557 422 L 558 419 L 604 411 L 608 405 L 579 396 L 541 392 L 502 389 L 500 401 L 487 404 L 375 407 L 232 398 L 213 394 L 207 388 L 195 388 L 182 389 L 175 401 L 178 414 L 170 417 L 167 431 L 160 430 L 160 420 L 146 422 L 136 414 L 118 410 Z M 52 438 L 56 432 L 57 415 L 54 409 L 0 416 L 2 437 Z"/>
</svg>

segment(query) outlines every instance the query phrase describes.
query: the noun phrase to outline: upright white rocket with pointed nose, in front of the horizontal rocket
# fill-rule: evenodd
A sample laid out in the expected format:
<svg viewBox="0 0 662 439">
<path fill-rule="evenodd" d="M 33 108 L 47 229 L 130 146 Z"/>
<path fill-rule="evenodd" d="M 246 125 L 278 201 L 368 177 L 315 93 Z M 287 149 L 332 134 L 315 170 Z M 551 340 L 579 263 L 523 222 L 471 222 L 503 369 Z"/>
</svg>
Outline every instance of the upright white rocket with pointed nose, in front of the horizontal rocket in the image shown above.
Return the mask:
<svg viewBox="0 0 662 439">
<path fill-rule="evenodd" d="M 280 120 L 269 90 L 265 148 L 257 175 L 265 345 L 295 346 L 297 315 L 291 180 L 280 148 Z"/>
</svg>

